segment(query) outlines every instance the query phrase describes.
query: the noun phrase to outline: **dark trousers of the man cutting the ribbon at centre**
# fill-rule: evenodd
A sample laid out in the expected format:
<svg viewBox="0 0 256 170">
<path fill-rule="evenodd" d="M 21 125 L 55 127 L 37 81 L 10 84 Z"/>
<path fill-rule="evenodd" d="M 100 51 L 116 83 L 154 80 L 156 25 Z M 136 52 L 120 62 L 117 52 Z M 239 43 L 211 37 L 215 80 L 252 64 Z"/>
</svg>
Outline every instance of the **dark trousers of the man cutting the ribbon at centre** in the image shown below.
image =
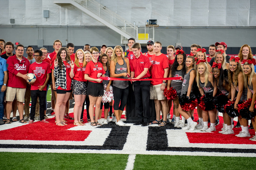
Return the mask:
<svg viewBox="0 0 256 170">
<path fill-rule="evenodd" d="M 135 112 L 141 122 L 150 123 L 150 81 L 134 82 Z"/>
</svg>

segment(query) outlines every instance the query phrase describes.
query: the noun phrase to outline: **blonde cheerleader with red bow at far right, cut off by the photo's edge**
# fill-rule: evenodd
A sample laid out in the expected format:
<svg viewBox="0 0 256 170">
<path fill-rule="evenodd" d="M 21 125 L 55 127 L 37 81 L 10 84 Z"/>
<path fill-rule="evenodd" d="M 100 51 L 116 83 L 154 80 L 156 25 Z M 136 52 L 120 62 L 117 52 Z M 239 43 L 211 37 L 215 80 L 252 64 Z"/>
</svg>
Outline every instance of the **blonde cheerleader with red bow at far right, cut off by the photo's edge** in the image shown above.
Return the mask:
<svg viewBox="0 0 256 170">
<path fill-rule="evenodd" d="M 254 93 L 254 90 L 256 90 L 256 74 L 254 72 L 254 65 L 252 60 L 247 60 L 243 64 L 243 73 L 244 73 L 244 83 L 247 86 L 248 92 L 247 92 L 247 99 L 251 98 L 252 103 L 250 104 L 249 111 L 254 112 L 254 102 L 256 101 L 256 93 Z M 254 128 L 254 131 L 256 132 L 256 116 L 251 119 L 252 125 Z M 250 136 L 249 132 L 244 132 L 244 136 Z M 241 137 L 241 135 L 239 136 Z M 250 138 L 251 141 L 256 141 L 256 136 Z"/>
</svg>

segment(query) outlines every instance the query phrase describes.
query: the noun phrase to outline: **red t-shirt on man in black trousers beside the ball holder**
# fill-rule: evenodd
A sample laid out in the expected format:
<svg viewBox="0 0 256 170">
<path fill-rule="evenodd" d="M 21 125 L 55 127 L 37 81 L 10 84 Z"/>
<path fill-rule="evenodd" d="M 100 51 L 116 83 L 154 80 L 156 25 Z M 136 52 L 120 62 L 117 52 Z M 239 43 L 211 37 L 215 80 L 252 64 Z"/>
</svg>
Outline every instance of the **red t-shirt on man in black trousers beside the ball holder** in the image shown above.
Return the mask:
<svg viewBox="0 0 256 170">
<path fill-rule="evenodd" d="M 37 78 L 35 80 L 35 83 L 31 85 L 31 90 L 38 90 L 41 85 L 45 84 L 47 74 L 51 73 L 52 70 L 50 69 L 50 64 L 46 63 L 45 61 L 42 61 L 41 63 L 34 62 L 29 66 L 28 69 L 29 73 L 34 73 L 35 77 Z M 46 86 L 43 90 L 46 90 Z"/>
</svg>

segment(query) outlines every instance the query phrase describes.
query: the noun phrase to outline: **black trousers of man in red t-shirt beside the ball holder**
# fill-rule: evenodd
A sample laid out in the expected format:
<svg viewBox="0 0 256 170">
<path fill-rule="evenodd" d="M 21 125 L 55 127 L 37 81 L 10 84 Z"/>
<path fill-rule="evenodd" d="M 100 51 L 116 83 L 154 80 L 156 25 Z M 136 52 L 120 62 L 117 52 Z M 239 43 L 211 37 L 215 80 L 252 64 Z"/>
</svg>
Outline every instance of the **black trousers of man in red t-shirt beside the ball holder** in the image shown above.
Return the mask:
<svg viewBox="0 0 256 170">
<path fill-rule="evenodd" d="M 40 120 L 45 119 L 45 95 L 46 95 L 46 90 L 31 90 L 31 110 L 30 110 L 30 119 L 35 121 L 35 105 L 37 104 L 37 97 L 39 98 L 39 115 L 40 115 Z"/>
</svg>

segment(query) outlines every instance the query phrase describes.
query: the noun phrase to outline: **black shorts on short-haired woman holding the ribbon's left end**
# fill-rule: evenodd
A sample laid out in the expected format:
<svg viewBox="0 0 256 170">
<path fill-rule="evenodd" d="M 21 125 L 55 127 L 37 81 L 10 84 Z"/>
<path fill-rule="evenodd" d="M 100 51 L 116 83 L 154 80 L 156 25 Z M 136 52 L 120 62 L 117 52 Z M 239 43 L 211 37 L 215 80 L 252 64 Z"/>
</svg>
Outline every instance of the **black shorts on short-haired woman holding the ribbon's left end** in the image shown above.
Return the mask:
<svg viewBox="0 0 256 170">
<path fill-rule="evenodd" d="M 86 94 L 93 96 L 93 97 L 103 96 L 104 95 L 103 83 L 93 83 L 93 82 L 89 81 Z"/>
</svg>

